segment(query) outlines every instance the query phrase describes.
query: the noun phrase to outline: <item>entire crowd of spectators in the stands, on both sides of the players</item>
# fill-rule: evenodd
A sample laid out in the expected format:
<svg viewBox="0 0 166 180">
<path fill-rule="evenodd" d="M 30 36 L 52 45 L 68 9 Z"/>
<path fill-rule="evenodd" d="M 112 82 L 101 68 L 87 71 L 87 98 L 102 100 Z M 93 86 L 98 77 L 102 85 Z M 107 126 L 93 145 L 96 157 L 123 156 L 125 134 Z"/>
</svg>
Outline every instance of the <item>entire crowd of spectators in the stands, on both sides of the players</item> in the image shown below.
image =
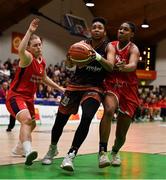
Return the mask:
<svg viewBox="0 0 166 180">
<path fill-rule="evenodd" d="M 14 77 L 18 59 L 7 59 L 4 63 L 0 61 L 0 101 L 5 99 L 6 91 Z M 56 65 L 50 64 L 47 69 L 48 76 L 59 85 L 66 87 L 69 79 L 73 76 L 73 71 L 65 67 L 64 61 Z M 166 87 L 140 87 L 140 106 L 135 113 L 136 121 L 166 121 Z M 39 84 L 36 93 L 36 103 L 58 104 L 61 94 L 44 84 Z"/>
</svg>

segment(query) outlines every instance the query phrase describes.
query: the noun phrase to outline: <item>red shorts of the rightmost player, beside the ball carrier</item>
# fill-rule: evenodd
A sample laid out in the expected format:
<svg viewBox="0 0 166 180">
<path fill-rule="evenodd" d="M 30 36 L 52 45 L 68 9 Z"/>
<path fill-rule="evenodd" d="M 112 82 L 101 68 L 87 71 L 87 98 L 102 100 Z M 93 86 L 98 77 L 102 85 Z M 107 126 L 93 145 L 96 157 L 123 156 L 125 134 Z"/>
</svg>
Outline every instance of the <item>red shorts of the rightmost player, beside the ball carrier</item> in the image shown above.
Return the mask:
<svg viewBox="0 0 166 180">
<path fill-rule="evenodd" d="M 107 84 L 105 88 L 107 94 L 116 96 L 120 110 L 132 118 L 140 103 L 137 85 Z"/>
</svg>

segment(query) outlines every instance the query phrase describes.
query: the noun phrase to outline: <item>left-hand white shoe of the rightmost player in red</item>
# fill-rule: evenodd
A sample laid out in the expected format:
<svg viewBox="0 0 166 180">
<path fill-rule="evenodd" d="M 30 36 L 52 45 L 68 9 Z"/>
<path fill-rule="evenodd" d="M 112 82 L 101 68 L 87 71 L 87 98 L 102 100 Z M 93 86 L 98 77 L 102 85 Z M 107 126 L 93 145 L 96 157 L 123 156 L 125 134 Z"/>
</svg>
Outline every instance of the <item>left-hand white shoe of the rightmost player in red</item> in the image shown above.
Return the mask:
<svg viewBox="0 0 166 180">
<path fill-rule="evenodd" d="M 110 165 L 111 165 L 111 162 L 109 160 L 108 153 L 101 151 L 99 153 L 99 168 L 104 168 Z"/>
</svg>

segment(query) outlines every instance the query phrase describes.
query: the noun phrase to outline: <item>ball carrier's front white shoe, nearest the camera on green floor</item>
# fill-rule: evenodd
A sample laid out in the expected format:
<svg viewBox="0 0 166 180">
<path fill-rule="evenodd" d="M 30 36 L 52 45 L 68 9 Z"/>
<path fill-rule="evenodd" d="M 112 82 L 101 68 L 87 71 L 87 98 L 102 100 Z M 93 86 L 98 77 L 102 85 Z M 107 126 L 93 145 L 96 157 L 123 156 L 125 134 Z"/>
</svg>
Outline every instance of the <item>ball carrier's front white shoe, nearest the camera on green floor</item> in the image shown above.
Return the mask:
<svg viewBox="0 0 166 180">
<path fill-rule="evenodd" d="M 74 171 L 73 160 L 75 157 L 75 151 L 67 154 L 66 157 L 63 159 L 60 167 L 66 171 Z"/>
</svg>

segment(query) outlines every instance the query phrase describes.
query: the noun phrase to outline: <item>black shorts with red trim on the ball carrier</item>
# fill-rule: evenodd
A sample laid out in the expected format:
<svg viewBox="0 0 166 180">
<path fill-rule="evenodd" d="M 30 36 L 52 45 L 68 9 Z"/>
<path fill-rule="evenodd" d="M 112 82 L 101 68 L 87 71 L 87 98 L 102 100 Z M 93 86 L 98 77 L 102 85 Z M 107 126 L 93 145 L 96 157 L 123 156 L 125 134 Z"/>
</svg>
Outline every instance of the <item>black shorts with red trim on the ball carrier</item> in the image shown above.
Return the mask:
<svg viewBox="0 0 166 180">
<path fill-rule="evenodd" d="M 65 91 L 59 105 L 59 111 L 63 114 L 76 114 L 79 105 L 88 98 L 93 98 L 101 102 L 101 95 L 97 91 Z"/>
</svg>

